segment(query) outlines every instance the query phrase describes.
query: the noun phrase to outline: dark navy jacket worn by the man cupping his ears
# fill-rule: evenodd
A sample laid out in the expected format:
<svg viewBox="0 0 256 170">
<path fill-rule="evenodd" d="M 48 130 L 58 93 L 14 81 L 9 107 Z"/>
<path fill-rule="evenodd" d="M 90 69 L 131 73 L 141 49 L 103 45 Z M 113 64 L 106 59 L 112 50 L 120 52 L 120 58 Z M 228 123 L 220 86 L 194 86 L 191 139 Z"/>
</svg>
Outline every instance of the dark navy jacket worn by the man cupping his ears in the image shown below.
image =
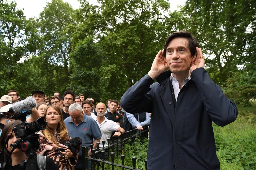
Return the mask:
<svg viewBox="0 0 256 170">
<path fill-rule="evenodd" d="M 238 111 L 209 77 L 204 68 L 195 69 L 173 100 L 171 72 L 147 74 L 121 98 L 129 113 L 152 113 L 148 145 L 148 170 L 220 169 L 212 122 L 225 126 L 236 120 Z"/>
</svg>

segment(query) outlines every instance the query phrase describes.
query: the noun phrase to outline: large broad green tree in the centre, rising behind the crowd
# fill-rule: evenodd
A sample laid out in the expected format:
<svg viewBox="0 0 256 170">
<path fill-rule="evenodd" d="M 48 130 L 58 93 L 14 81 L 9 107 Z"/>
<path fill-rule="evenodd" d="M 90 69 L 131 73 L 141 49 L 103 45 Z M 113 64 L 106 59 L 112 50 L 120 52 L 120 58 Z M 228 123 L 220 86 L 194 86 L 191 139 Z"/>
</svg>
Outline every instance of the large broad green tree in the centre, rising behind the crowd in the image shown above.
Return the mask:
<svg viewBox="0 0 256 170">
<path fill-rule="evenodd" d="M 165 22 L 169 4 L 164 0 L 99 2 L 101 7 L 81 1 L 82 9 L 76 15 L 78 31 L 73 39 L 76 45 L 72 51 L 74 65 L 85 63 L 82 56 L 88 58 L 84 68 L 73 72 L 72 79 L 91 79 L 88 75 L 92 72 L 95 79 L 92 84 L 84 81 L 73 86 L 99 96 L 97 100 L 100 101 L 119 100 L 128 87 L 147 74 L 157 52 L 163 48 L 165 38 L 172 32 L 168 28 L 172 28 L 173 23 Z M 93 51 L 87 50 L 88 40 L 97 47 Z"/>
</svg>

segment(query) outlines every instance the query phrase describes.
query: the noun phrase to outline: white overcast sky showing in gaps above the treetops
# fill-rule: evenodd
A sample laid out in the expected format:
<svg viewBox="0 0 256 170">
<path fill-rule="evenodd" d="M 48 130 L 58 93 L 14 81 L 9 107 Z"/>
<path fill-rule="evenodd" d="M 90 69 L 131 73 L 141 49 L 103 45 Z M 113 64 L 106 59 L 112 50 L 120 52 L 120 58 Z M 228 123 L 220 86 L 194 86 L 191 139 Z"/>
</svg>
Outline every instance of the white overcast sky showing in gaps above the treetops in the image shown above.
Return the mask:
<svg viewBox="0 0 256 170">
<path fill-rule="evenodd" d="M 43 11 L 43 8 L 46 6 L 46 2 L 51 2 L 51 0 L 15 0 L 18 8 L 24 9 L 26 18 L 38 18 L 40 12 Z M 80 2 L 77 0 L 63 0 L 68 2 L 74 9 L 79 8 Z M 186 0 L 169 0 L 171 7 L 170 10 L 173 12 L 177 9 L 177 5 L 184 5 Z M 97 0 L 89 0 L 90 4 L 98 4 Z"/>
</svg>

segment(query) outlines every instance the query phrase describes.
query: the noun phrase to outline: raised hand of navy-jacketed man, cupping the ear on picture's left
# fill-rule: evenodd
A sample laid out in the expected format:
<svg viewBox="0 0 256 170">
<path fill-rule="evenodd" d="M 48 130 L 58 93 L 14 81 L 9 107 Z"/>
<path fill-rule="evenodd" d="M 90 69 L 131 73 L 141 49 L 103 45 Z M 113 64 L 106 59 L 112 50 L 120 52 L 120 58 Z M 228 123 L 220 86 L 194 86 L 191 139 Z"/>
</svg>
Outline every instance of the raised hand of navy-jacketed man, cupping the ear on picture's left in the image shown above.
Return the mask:
<svg viewBox="0 0 256 170">
<path fill-rule="evenodd" d="M 163 73 L 168 68 L 168 64 L 166 63 L 166 58 L 164 57 L 164 50 L 160 50 L 151 66 L 148 75 L 154 80 L 157 76 Z"/>
</svg>

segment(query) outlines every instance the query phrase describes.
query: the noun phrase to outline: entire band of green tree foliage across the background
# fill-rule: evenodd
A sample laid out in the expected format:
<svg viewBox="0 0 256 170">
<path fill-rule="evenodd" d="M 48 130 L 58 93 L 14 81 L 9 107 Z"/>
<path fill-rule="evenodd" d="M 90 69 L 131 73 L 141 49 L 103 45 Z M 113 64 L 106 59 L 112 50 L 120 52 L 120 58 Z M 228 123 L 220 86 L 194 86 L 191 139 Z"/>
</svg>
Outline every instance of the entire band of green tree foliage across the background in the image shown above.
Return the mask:
<svg viewBox="0 0 256 170">
<path fill-rule="evenodd" d="M 255 97 L 255 1 L 187 0 L 174 12 L 165 0 L 98 2 L 80 0 L 74 10 L 52 0 L 38 19 L 26 20 L 15 2 L 0 0 L 0 91 L 15 88 L 25 97 L 34 89 L 71 89 L 96 101 L 119 100 L 148 73 L 166 37 L 188 30 L 225 94 L 245 105 Z"/>
</svg>

